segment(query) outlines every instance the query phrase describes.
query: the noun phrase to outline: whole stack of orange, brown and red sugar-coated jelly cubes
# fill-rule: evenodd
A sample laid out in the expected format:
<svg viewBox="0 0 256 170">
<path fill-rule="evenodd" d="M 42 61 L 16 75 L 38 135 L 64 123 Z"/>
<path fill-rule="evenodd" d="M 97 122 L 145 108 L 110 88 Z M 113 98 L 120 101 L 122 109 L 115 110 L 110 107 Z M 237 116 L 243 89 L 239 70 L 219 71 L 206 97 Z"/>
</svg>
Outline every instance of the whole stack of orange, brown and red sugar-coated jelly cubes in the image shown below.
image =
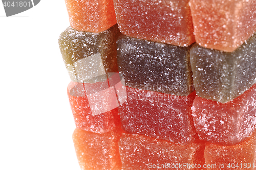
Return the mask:
<svg viewBox="0 0 256 170">
<path fill-rule="evenodd" d="M 256 169 L 256 0 L 65 0 L 81 169 Z"/>
</svg>

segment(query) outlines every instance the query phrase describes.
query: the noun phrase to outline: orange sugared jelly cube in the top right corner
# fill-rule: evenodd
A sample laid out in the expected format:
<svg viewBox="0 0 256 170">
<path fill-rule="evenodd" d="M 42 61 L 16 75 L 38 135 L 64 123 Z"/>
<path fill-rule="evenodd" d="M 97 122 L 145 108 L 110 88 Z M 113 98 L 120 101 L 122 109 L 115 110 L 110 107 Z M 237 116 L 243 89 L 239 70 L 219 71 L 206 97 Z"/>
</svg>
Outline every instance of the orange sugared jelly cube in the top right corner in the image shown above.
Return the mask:
<svg viewBox="0 0 256 170">
<path fill-rule="evenodd" d="M 199 45 L 232 52 L 256 31 L 256 0 L 190 0 Z"/>
</svg>

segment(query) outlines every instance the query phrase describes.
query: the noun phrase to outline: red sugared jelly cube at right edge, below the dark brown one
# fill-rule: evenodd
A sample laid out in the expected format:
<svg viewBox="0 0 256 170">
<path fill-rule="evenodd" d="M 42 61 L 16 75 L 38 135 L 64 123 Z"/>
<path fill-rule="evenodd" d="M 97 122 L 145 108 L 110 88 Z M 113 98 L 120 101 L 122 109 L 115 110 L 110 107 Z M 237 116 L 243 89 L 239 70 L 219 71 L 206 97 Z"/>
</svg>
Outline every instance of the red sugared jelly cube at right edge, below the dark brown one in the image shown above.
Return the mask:
<svg viewBox="0 0 256 170">
<path fill-rule="evenodd" d="M 196 96 L 191 109 L 202 140 L 223 145 L 239 143 L 255 129 L 256 84 L 224 104 Z"/>
</svg>

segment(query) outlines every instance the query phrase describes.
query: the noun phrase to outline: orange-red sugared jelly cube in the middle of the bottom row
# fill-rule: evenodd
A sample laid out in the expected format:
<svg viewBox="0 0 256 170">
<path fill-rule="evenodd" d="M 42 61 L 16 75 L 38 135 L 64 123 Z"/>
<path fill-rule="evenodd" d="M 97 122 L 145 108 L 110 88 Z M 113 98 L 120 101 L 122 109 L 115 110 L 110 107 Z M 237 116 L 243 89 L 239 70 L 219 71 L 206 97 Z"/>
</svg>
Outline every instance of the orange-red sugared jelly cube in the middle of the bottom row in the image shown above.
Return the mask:
<svg viewBox="0 0 256 170">
<path fill-rule="evenodd" d="M 123 170 L 205 169 L 204 148 L 204 142 L 180 145 L 138 134 L 123 134 L 119 140 Z"/>
</svg>

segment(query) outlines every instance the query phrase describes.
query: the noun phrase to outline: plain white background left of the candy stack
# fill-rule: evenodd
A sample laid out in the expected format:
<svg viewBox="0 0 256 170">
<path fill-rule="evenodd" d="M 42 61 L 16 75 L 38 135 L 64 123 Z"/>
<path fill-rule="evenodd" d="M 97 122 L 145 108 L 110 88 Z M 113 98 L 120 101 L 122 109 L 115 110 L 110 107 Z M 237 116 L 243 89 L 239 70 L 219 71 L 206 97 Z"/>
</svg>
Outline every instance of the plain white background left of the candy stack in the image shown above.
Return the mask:
<svg viewBox="0 0 256 170">
<path fill-rule="evenodd" d="M 68 26 L 64 0 L 11 17 L 0 2 L 0 169 L 80 169 L 58 47 Z"/>
</svg>

